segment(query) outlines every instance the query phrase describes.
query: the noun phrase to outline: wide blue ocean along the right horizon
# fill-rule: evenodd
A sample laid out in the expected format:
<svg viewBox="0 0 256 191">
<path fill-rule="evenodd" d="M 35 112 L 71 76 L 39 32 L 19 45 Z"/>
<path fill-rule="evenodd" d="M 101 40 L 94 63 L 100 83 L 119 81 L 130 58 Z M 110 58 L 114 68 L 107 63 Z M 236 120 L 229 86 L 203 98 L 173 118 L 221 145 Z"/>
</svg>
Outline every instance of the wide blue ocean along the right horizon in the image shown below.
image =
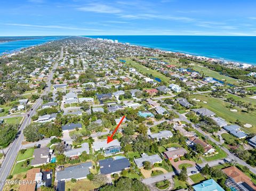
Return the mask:
<svg viewBox="0 0 256 191">
<path fill-rule="evenodd" d="M 241 36 L 87 36 L 117 39 L 165 51 L 182 52 L 256 65 L 256 37 Z"/>
</svg>

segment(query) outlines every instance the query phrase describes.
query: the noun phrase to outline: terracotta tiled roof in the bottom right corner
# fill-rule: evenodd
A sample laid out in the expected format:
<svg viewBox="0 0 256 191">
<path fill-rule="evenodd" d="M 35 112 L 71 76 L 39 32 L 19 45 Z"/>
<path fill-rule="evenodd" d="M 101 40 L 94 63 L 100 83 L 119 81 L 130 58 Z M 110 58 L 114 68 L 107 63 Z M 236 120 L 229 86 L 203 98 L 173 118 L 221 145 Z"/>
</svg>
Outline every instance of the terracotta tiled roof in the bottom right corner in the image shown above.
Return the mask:
<svg viewBox="0 0 256 191">
<path fill-rule="evenodd" d="M 236 183 L 239 182 L 245 182 L 247 185 L 249 185 L 251 188 L 256 190 L 256 185 L 253 184 L 251 179 L 245 175 L 241 170 L 236 168 L 235 166 L 233 167 L 228 167 L 226 169 L 222 169 L 222 171 L 229 176 L 230 178 L 233 178 Z"/>
</svg>

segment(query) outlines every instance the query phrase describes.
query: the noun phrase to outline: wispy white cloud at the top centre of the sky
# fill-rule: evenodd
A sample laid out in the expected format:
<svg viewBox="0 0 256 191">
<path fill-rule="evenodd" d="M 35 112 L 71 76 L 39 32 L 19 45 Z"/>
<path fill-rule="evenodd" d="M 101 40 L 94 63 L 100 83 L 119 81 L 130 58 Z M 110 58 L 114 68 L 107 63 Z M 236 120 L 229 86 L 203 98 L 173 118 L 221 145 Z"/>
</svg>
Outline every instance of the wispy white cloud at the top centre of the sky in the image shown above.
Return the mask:
<svg viewBox="0 0 256 191">
<path fill-rule="evenodd" d="M 88 6 L 83 6 L 77 8 L 79 11 L 85 11 L 85 12 L 94 12 L 94 13 L 110 13 L 110 14 L 116 14 L 121 13 L 122 11 L 116 7 L 110 6 L 110 5 L 104 5 L 104 4 L 89 4 Z"/>
</svg>

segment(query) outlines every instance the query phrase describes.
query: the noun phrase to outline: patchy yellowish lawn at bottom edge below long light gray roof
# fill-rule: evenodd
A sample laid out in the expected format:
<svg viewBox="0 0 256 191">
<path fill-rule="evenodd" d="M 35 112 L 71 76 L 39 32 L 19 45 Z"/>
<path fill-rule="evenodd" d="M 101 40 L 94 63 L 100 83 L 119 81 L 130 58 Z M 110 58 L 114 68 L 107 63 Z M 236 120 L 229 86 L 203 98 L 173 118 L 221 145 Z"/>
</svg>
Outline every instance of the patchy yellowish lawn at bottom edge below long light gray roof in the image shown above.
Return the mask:
<svg viewBox="0 0 256 191">
<path fill-rule="evenodd" d="M 68 189 L 72 191 L 89 191 L 93 190 L 94 188 L 97 188 L 97 186 L 94 186 L 90 180 L 83 179 L 83 180 L 78 180 L 74 183 L 71 181 L 66 182 L 65 190 L 67 191 Z"/>
</svg>

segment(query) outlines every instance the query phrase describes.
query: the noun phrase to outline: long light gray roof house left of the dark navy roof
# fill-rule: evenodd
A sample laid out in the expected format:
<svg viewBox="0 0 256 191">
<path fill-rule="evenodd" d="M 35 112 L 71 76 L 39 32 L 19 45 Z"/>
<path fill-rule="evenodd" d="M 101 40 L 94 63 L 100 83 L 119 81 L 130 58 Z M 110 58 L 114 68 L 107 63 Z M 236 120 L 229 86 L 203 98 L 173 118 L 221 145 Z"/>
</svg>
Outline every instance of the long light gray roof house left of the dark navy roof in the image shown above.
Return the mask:
<svg viewBox="0 0 256 191">
<path fill-rule="evenodd" d="M 71 180 L 72 178 L 81 180 L 87 178 L 92 168 L 92 162 L 81 163 L 72 167 L 67 167 L 64 170 L 56 172 L 55 181 L 58 180 Z"/>
</svg>

